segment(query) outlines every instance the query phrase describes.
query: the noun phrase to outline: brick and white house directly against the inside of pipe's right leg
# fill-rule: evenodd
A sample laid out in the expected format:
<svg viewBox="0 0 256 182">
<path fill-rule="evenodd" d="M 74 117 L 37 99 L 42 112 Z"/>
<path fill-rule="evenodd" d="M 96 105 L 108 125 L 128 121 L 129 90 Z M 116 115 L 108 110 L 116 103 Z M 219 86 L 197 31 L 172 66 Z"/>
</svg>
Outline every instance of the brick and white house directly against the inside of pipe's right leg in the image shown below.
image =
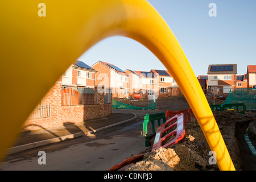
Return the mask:
<svg viewBox="0 0 256 182">
<path fill-rule="evenodd" d="M 151 69 L 150 72 L 158 79 L 159 97 L 180 96 L 182 94 L 170 72 L 158 69 Z"/>
</svg>

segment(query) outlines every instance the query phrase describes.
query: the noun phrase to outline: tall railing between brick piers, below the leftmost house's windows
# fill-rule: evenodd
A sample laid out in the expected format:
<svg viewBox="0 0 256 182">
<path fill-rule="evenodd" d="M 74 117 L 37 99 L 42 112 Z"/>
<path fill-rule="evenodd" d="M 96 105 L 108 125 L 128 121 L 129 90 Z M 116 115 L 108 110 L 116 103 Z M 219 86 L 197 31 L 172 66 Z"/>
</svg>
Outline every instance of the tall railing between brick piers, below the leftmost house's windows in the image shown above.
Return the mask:
<svg viewBox="0 0 256 182">
<path fill-rule="evenodd" d="M 98 104 L 98 92 L 92 88 L 62 86 L 61 106 Z"/>
</svg>

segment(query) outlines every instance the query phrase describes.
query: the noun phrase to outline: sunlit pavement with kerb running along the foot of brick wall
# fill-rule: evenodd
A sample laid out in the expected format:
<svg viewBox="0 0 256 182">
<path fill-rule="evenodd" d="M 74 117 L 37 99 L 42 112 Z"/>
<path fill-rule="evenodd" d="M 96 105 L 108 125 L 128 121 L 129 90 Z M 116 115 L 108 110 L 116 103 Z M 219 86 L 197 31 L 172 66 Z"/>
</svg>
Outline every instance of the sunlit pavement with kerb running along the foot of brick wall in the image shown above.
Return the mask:
<svg viewBox="0 0 256 182">
<path fill-rule="evenodd" d="M 134 113 L 117 112 L 104 118 L 90 119 L 80 123 L 64 123 L 63 126 L 38 130 L 22 130 L 15 139 L 13 147 L 9 148 L 8 155 L 31 148 L 61 142 L 67 139 L 90 135 L 137 118 Z"/>
</svg>

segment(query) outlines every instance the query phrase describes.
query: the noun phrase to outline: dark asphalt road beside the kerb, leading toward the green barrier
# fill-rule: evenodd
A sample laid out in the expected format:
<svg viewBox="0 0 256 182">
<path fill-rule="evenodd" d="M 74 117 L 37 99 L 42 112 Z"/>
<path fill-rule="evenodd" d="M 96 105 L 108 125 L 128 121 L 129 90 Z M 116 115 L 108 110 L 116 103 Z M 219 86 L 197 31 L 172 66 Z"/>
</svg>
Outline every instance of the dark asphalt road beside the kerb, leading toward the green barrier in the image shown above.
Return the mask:
<svg viewBox="0 0 256 182">
<path fill-rule="evenodd" d="M 106 171 L 132 154 L 146 150 L 140 133 L 142 122 L 138 118 L 91 135 L 7 156 L 0 170 Z"/>
</svg>

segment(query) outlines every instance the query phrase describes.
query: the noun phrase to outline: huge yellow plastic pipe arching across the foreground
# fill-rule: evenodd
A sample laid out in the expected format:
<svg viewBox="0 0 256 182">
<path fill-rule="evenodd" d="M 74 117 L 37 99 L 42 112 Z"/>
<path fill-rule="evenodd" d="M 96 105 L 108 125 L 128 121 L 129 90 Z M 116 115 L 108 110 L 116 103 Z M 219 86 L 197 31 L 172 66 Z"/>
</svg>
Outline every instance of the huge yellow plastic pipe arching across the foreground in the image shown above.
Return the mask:
<svg viewBox="0 0 256 182">
<path fill-rule="evenodd" d="M 137 40 L 170 71 L 217 154 L 221 170 L 232 160 L 187 57 L 167 23 L 144 0 L 10 1 L 0 6 L 0 158 L 26 118 L 78 57 L 109 36 Z M 46 10 L 46 16 L 39 16 Z M 122 57 L 120 57 L 122 59 Z"/>
</svg>

